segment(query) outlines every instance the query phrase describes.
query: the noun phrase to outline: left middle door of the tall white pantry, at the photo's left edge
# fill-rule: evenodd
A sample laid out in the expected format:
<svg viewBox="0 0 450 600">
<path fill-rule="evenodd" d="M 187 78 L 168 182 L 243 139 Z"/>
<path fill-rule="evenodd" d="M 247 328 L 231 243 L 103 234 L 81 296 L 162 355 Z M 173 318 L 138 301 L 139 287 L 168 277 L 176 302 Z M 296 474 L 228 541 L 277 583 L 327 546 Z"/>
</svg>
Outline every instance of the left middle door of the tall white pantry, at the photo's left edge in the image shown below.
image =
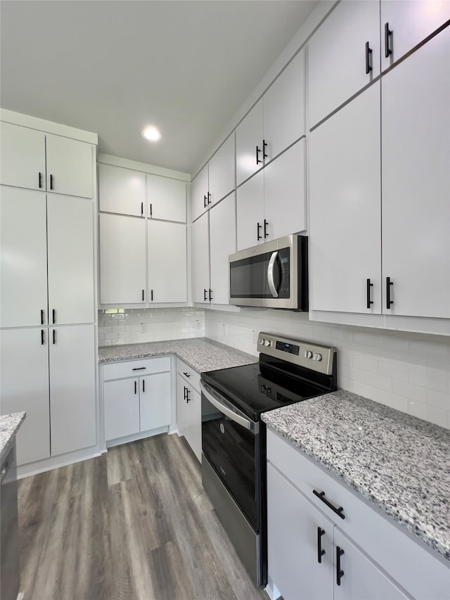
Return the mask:
<svg viewBox="0 0 450 600">
<path fill-rule="evenodd" d="M 1 327 L 47 322 L 46 196 L 3 187 L 0 194 Z"/>
</svg>

